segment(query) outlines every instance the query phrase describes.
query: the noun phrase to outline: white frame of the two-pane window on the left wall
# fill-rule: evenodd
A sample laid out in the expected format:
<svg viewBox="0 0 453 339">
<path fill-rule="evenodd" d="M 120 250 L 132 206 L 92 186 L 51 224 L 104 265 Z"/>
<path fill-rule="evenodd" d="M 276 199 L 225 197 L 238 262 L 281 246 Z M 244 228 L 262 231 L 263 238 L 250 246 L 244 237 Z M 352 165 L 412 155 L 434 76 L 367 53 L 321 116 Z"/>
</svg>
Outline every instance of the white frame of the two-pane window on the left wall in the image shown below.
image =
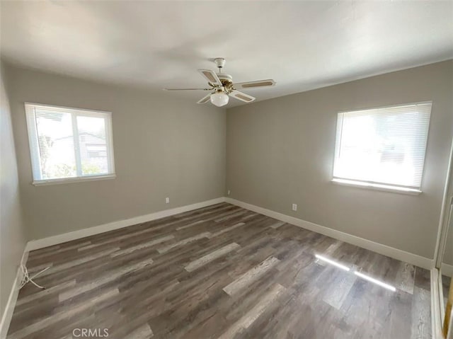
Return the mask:
<svg viewBox="0 0 453 339">
<path fill-rule="evenodd" d="M 60 108 L 64 113 L 70 113 L 72 119 L 72 135 L 74 138 L 74 160 L 76 161 L 77 176 L 70 178 L 54 178 L 54 179 L 37 179 L 35 174 L 42 177 L 42 168 L 40 166 L 40 152 L 38 144 L 38 130 L 36 128 L 35 113 L 30 112 L 31 107 L 41 108 Z M 86 108 L 73 108 L 60 105 L 47 105 L 42 103 L 24 103 L 25 120 L 27 122 L 28 143 L 30 147 L 30 164 L 32 172 L 32 184 L 38 185 L 53 185 L 59 183 L 78 183 L 91 180 L 105 180 L 116 178 L 115 173 L 115 156 L 113 150 L 113 127 L 112 113 L 103 110 L 88 110 Z M 81 174 L 81 159 L 79 151 L 79 130 L 77 128 L 77 117 L 103 117 L 105 121 L 105 145 L 107 150 L 108 173 L 105 174 L 90 174 L 83 176 Z M 35 173 L 35 168 L 39 169 L 39 173 Z"/>
</svg>

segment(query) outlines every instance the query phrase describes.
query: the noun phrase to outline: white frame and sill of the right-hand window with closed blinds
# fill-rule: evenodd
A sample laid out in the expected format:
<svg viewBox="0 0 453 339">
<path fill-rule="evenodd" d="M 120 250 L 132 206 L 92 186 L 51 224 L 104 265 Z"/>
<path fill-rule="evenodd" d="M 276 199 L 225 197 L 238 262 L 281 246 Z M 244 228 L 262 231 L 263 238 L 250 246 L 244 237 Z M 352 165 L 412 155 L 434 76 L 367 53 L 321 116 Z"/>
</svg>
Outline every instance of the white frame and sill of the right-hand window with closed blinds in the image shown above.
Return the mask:
<svg viewBox="0 0 453 339">
<path fill-rule="evenodd" d="M 420 179 L 419 188 L 408 187 L 405 185 L 392 185 L 392 184 L 386 184 L 386 183 L 365 181 L 365 180 L 359 180 L 359 179 L 339 178 L 339 177 L 334 176 L 335 163 L 337 160 L 337 155 L 339 153 L 339 146 L 340 146 L 338 144 L 338 139 L 340 139 L 340 137 L 338 137 L 338 129 L 339 129 L 338 122 L 339 122 L 340 114 L 353 113 L 353 112 L 362 111 L 362 110 L 378 110 L 378 109 L 385 109 L 385 108 L 396 108 L 396 107 L 424 105 L 424 104 L 430 104 L 431 110 L 430 110 L 430 117 L 429 117 L 429 121 L 428 121 L 428 132 L 426 134 L 425 151 L 424 151 L 424 156 L 423 156 L 422 176 Z M 416 103 L 399 103 L 399 104 L 394 104 L 394 105 L 374 106 L 374 107 L 369 107 L 369 108 L 355 108 L 352 110 L 338 111 L 336 114 L 336 129 L 335 129 L 336 134 L 335 134 L 335 138 L 334 138 L 335 147 L 334 147 L 334 151 L 333 151 L 333 163 L 332 163 L 331 180 L 330 180 L 331 183 L 334 183 L 336 185 L 350 186 L 350 187 L 362 188 L 362 189 L 365 188 L 365 189 L 369 189 L 369 190 L 379 190 L 379 191 L 384 191 L 384 192 L 400 193 L 400 194 L 406 194 L 406 195 L 420 195 L 420 193 L 423 193 L 422 187 L 423 187 L 423 181 L 425 178 L 425 164 L 426 164 L 426 154 L 428 153 L 428 141 L 429 141 L 429 136 L 430 136 L 431 115 L 432 115 L 432 100 L 419 101 Z"/>
</svg>

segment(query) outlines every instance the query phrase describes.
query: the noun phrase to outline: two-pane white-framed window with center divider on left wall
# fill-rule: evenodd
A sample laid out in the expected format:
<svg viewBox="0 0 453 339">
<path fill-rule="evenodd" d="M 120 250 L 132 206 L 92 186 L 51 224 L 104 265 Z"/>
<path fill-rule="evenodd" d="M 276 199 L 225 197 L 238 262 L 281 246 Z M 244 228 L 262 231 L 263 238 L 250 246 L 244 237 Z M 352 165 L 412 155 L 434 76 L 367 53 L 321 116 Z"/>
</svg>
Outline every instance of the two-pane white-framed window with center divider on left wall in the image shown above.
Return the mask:
<svg viewBox="0 0 453 339">
<path fill-rule="evenodd" d="M 114 178 L 111 113 L 25 103 L 33 184 Z"/>
</svg>

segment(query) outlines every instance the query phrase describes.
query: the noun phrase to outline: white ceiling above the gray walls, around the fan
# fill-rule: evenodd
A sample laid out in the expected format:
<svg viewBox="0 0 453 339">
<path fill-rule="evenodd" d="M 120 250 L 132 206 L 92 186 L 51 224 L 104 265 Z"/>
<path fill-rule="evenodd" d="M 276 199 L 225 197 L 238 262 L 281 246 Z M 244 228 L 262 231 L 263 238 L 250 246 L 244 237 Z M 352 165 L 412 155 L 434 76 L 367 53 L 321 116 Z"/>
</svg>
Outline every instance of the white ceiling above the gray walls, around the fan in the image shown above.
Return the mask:
<svg viewBox="0 0 453 339">
<path fill-rule="evenodd" d="M 1 1 L 1 55 L 97 81 L 203 87 L 225 57 L 258 100 L 453 58 L 453 1 Z M 204 92 L 171 92 L 197 101 Z M 229 106 L 239 105 L 231 99 Z"/>
</svg>

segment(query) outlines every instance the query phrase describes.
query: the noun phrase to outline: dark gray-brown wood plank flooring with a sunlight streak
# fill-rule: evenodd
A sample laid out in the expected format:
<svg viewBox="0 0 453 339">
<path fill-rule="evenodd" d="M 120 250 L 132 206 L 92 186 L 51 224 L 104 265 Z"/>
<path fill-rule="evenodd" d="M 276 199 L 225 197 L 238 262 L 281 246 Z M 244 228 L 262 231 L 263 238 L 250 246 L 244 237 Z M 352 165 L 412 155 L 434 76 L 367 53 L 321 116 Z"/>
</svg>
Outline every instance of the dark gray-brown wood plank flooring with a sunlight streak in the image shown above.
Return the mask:
<svg viewBox="0 0 453 339">
<path fill-rule="evenodd" d="M 30 252 L 47 266 L 8 339 L 431 337 L 428 270 L 226 203 Z"/>
</svg>

